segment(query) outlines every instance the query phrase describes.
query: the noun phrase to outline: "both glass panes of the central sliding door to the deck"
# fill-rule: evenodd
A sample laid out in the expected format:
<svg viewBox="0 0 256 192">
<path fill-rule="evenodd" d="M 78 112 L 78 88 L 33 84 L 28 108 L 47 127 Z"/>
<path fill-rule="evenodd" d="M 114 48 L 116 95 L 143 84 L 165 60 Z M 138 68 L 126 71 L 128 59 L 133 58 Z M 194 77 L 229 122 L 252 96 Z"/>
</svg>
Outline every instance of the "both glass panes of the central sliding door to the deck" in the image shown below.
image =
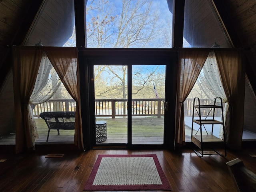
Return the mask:
<svg viewBox="0 0 256 192">
<path fill-rule="evenodd" d="M 96 145 L 164 143 L 165 74 L 165 65 L 94 65 Z"/>
</svg>

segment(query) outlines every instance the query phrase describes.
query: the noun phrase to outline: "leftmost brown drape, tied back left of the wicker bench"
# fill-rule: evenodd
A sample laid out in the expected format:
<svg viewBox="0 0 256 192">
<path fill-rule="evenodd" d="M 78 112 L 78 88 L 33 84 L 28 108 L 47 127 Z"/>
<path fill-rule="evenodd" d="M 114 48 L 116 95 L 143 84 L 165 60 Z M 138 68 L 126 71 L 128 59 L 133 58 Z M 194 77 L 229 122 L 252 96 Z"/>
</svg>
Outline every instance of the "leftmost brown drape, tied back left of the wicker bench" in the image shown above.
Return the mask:
<svg viewBox="0 0 256 192">
<path fill-rule="evenodd" d="M 13 47 L 13 83 L 16 123 L 16 153 L 26 147 L 34 148 L 38 136 L 36 127 L 30 124 L 31 107 L 29 99 L 32 94 L 42 50 L 34 47 Z"/>
</svg>

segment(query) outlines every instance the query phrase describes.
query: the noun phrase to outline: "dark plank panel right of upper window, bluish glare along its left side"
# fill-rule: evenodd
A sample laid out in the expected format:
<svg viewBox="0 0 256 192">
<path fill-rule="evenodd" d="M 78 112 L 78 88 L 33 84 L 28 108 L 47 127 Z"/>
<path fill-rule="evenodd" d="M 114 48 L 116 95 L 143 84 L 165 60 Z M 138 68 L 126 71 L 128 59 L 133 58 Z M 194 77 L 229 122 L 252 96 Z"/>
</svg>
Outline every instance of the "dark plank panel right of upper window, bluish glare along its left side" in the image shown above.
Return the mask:
<svg viewBox="0 0 256 192">
<path fill-rule="evenodd" d="M 214 40 L 230 48 L 228 39 L 208 0 L 185 0 L 184 38 L 192 47 L 212 47 Z"/>
</svg>

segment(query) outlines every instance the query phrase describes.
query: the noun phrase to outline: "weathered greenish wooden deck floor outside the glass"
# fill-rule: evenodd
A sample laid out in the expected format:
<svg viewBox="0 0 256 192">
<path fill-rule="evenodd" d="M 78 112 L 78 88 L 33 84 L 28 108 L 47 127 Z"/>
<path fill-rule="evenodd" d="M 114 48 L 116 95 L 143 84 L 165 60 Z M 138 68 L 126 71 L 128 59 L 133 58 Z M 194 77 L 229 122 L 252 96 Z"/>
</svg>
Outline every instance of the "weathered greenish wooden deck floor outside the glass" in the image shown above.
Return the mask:
<svg viewBox="0 0 256 192">
<path fill-rule="evenodd" d="M 96 121 L 104 120 L 107 122 L 107 140 L 100 144 L 124 144 L 127 143 L 127 118 L 96 118 Z M 46 142 L 48 127 L 43 119 L 35 119 L 39 139 L 36 144 L 52 143 L 73 143 L 74 130 L 51 130 L 49 140 Z M 164 131 L 164 118 L 144 117 L 132 118 L 132 144 L 162 144 Z M 189 128 L 186 128 L 186 137 L 190 140 Z M 0 136 L 0 145 L 14 145 L 15 133 Z"/>
</svg>

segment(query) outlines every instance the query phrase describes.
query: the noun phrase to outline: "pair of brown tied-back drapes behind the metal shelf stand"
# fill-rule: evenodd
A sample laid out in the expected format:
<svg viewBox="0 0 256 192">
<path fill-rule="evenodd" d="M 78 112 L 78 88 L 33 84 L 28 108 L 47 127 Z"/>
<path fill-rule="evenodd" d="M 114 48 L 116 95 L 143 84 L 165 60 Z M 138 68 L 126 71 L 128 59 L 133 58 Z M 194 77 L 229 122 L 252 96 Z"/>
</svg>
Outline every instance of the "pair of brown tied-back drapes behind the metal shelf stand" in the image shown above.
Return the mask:
<svg viewBox="0 0 256 192">
<path fill-rule="evenodd" d="M 184 106 L 183 102 L 194 86 L 210 49 L 186 49 L 179 50 L 178 85 L 176 99 L 175 121 L 175 146 L 185 143 Z M 242 132 L 244 124 L 244 92 L 245 92 L 245 65 L 244 52 L 241 49 L 214 49 L 220 79 L 225 96 L 220 90 L 213 90 L 212 94 L 221 94 L 226 102 L 225 134 L 226 144 L 229 148 L 240 149 L 242 146 Z M 211 55 L 209 55 L 211 57 Z M 211 58 L 212 59 L 212 58 Z M 212 62 L 209 60 L 208 62 Z M 211 70 L 212 70 L 211 66 Z M 207 69 L 206 69 L 207 70 Z M 206 72 L 206 76 L 209 74 Z M 217 74 L 215 74 L 217 75 Z M 205 77 L 209 78 L 209 77 Z M 200 79 L 202 81 L 202 78 Z M 209 83 L 209 82 L 208 82 Z M 209 84 L 207 83 L 207 86 Z M 211 84 L 212 82 L 210 82 Z M 217 85 L 217 84 L 218 85 Z M 215 86 L 220 86 L 214 82 Z M 213 85 L 213 84 L 212 84 Z M 215 88 L 216 89 L 216 88 Z M 218 89 L 218 88 L 217 88 Z M 219 95 L 218 95 L 219 96 Z"/>
</svg>

